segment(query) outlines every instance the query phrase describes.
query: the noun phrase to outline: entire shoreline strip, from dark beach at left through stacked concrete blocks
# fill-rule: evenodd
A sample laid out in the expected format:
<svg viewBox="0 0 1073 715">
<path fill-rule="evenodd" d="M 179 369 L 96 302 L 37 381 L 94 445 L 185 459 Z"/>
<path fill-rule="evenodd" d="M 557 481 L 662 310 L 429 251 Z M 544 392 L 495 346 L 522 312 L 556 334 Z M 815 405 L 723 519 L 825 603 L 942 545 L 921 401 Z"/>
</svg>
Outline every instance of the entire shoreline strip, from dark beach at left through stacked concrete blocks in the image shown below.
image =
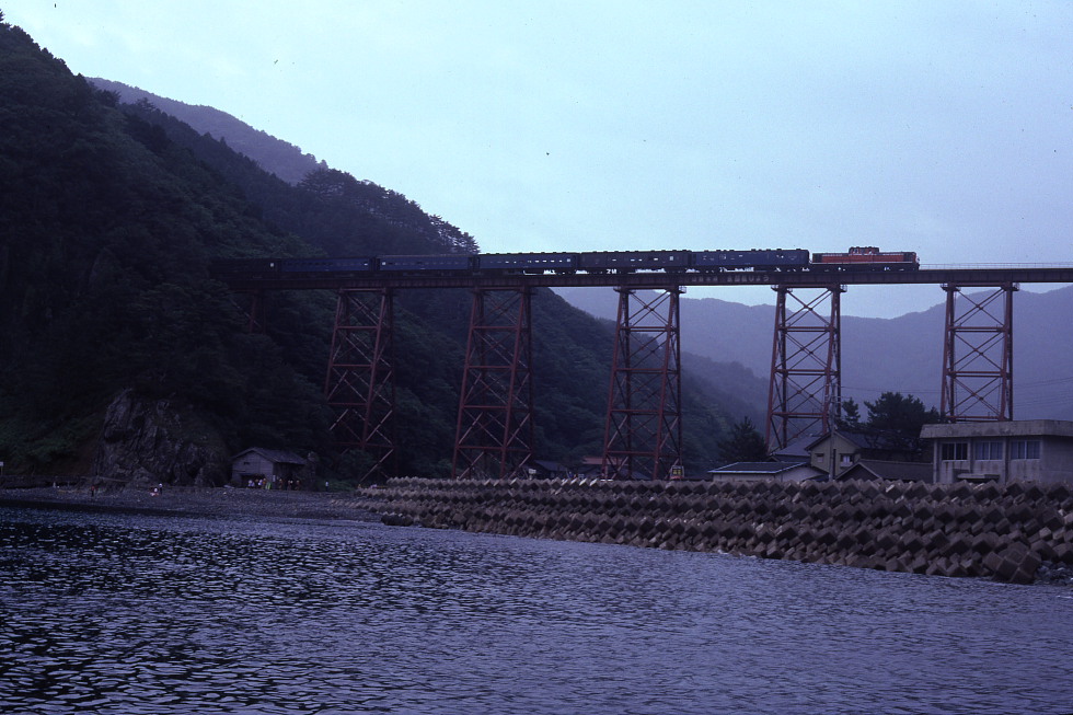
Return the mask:
<svg viewBox="0 0 1073 715">
<path fill-rule="evenodd" d="M 1014 486 L 396 478 L 356 493 L 165 486 L 0 488 L 0 507 L 424 526 L 1073 586 L 1073 501 Z M 995 492 L 992 494 L 991 492 Z M 1039 494 L 1036 494 L 1039 492 Z"/>
</svg>

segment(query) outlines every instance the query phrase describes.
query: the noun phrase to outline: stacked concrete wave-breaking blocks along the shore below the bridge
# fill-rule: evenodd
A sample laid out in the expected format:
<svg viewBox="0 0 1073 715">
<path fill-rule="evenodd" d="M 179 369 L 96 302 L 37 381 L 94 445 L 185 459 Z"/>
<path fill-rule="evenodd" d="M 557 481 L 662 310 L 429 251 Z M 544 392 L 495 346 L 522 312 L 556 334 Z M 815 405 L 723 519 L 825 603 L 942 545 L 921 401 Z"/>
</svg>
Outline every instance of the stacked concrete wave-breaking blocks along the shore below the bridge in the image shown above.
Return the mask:
<svg viewBox="0 0 1073 715">
<path fill-rule="evenodd" d="M 384 523 L 1031 583 L 1073 568 L 1073 487 L 395 478 Z"/>
</svg>

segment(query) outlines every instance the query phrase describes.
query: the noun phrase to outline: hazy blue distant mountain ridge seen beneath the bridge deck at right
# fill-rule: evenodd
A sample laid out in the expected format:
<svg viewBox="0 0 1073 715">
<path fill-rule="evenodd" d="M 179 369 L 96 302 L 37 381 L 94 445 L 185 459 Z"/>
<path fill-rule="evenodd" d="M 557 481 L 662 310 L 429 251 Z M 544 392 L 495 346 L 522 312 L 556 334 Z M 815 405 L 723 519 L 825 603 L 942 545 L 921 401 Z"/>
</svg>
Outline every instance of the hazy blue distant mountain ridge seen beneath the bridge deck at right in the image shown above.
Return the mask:
<svg viewBox="0 0 1073 715">
<path fill-rule="evenodd" d="M 897 287 L 892 287 L 896 290 Z M 568 302 L 613 320 L 618 296 L 556 289 Z M 1073 287 L 1014 296 L 1014 417 L 1073 419 Z M 842 316 L 842 393 L 862 404 L 882 392 L 939 406 L 945 304 L 892 319 Z M 682 349 L 738 362 L 760 379 L 771 370 L 775 311 L 716 298 L 682 298 Z"/>
</svg>

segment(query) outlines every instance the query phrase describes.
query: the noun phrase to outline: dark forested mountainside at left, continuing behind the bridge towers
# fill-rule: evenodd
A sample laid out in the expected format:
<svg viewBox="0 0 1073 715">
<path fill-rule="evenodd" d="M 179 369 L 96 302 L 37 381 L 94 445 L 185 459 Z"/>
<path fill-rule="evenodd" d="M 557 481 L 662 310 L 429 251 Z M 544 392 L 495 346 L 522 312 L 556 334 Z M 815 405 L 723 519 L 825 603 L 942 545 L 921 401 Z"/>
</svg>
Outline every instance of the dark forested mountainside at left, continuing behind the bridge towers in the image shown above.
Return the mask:
<svg viewBox="0 0 1073 715">
<path fill-rule="evenodd" d="M 267 334 L 247 334 L 209 263 L 476 250 L 406 197 L 343 172 L 318 165 L 290 185 L 148 103 L 94 89 L 7 24 L 0 185 L 9 472 L 218 483 L 229 454 L 261 446 L 316 452 L 345 476 L 322 394 L 335 297 L 273 295 Z M 466 291 L 399 298 L 404 473 L 449 470 L 470 300 Z M 598 453 L 611 333 L 550 291 L 534 300 L 534 324 L 538 455 Z M 705 469 L 739 415 L 690 385 L 687 460 Z"/>
</svg>

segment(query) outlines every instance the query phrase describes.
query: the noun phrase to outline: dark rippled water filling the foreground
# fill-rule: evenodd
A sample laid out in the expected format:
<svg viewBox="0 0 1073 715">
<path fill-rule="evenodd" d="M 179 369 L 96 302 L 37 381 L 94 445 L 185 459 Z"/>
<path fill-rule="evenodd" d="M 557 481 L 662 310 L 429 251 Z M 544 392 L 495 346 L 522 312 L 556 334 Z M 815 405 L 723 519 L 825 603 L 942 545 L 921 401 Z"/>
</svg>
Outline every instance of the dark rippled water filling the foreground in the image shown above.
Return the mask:
<svg viewBox="0 0 1073 715">
<path fill-rule="evenodd" d="M 373 523 L 0 510 L 0 711 L 1058 714 L 1065 595 Z"/>
</svg>

